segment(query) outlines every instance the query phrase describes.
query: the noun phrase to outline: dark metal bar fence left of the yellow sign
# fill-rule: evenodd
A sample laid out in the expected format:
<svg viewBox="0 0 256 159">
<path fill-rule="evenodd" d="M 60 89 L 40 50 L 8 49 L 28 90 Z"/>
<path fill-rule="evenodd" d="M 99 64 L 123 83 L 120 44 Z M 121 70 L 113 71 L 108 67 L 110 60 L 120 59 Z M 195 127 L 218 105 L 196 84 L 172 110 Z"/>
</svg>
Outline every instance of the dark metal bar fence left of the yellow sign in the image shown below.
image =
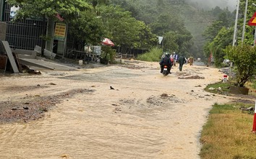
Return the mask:
<svg viewBox="0 0 256 159">
<path fill-rule="evenodd" d="M 5 37 L 12 48 L 33 50 L 35 45 L 41 45 L 40 37 L 43 35 L 43 28 L 47 28 L 47 22 L 44 24 L 45 27 L 43 27 L 43 21 L 38 19 L 22 19 L 19 22 L 12 22 L 10 9 L 11 6 L 5 4 L 3 21 L 7 27 L 5 32 L 2 30 L 0 36 Z"/>
</svg>

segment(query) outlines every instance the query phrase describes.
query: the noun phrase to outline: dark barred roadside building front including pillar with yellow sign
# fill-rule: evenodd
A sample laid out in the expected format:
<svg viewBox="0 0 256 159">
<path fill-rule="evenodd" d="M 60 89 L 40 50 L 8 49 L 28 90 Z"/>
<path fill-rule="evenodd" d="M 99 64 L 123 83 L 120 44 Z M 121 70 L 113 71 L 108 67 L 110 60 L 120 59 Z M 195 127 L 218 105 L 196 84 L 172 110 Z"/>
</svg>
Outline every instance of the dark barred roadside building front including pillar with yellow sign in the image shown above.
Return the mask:
<svg viewBox="0 0 256 159">
<path fill-rule="evenodd" d="M 18 8 L 9 6 L 5 0 L 0 0 L 0 40 L 9 42 L 11 48 L 34 50 L 35 46 L 45 46 L 46 50 L 64 55 L 67 39 L 67 26 L 63 22 L 51 19 L 22 19 L 12 22 Z M 57 32 L 56 32 L 57 31 Z M 47 34 L 43 43 L 42 36 Z"/>
</svg>

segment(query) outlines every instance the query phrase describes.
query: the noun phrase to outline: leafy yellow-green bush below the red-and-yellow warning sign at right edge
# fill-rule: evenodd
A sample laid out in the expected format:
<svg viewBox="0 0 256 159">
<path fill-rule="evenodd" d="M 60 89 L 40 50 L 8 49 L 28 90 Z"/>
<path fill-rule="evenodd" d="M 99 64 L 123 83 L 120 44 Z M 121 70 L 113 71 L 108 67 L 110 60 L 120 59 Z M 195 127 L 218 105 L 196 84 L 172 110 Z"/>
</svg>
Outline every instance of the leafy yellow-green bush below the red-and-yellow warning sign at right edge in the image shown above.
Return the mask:
<svg viewBox="0 0 256 159">
<path fill-rule="evenodd" d="M 236 67 L 236 85 L 243 87 L 253 77 L 256 68 L 256 47 L 251 45 L 228 46 L 224 50 L 226 58 Z"/>
</svg>

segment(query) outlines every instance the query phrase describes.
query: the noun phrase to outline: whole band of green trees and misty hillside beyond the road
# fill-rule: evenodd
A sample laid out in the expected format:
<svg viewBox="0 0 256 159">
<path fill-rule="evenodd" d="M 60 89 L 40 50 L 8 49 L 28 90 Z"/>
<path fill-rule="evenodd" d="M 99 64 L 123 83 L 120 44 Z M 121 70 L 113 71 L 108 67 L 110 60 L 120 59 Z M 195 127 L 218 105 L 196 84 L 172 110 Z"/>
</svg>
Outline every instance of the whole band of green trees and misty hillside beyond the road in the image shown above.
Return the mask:
<svg viewBox="0 0 256 159">
<path fill-rule="evenodd" d="M 175 51 L 202 59 L 212 53 L 216 65 L 220 65 L 225 55 L 223 48 L 231 45 L 234 32 L 235 12 L 220 6 L 202 9 L 200 5 L 208 6 L 204 1 L 204 4 L 189 0 L 8 0 L 8 3 L 21 7 L 17 18 L 58 20 L 56 14 L 60 14 L 77 42 L 95 45 L 108 37 L 122 53 L 131 48 L 150 50 L 158 46 L 164 52 Z M 238 37 L 242 34 L 244 5 L 241 1 Z M 248 7 L 247 20 L 253 7 Z M 244 43 L 249 45 L 253 42 L 252 30 L 253 27 L 246 27 Z M 157 36 L 164 37 L 161 44 Z M 237 43 L 241 43 L 239 38 Z"/>
</svg>

